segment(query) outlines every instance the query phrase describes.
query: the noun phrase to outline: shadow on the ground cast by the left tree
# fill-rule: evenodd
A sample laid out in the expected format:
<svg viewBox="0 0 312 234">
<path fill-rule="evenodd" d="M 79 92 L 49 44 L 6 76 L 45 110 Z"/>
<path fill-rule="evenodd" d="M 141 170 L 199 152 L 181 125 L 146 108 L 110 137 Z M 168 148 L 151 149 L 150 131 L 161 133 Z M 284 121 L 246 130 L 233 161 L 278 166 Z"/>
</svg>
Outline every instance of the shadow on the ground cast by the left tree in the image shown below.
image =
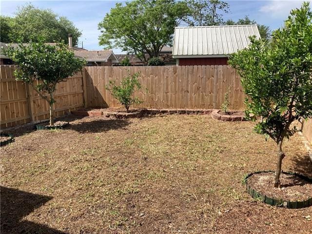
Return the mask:
<svg viewBox="0 0 312 234">
<path fill-rule="evenodd" d="M 98 118 L 91 121 L 71 123 L 68 129 L 79 133 L 101 133 L 109 130 L 126 129 L 131 122 L 128 119 L 104 119 Z"/>
</svg>

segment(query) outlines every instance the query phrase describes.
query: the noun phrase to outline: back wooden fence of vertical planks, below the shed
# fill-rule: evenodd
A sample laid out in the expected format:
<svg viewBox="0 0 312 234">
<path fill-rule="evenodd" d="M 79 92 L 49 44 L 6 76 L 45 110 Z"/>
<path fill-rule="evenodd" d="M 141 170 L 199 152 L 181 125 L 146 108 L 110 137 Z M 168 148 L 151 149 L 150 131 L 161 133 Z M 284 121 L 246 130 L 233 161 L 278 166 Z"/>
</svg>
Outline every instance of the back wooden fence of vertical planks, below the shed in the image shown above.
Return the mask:
<svg viewBox="0 0 312 234">
<path fill-rule="evenodd" d="M 85 67 L 88 107 L 120 107 L 105 89 L 110 79 L 117 84 L 127 74 L 140 73 L 143 88 L 136 93 L 144 102 L 137 107 L 155 109 L 219 109 L 229 92 L 230 109 L 243 109 L 245 95 L 236 70 L 216 66 Z M 144 90 L 147 88 L 148 93 Z"/>
</svg>

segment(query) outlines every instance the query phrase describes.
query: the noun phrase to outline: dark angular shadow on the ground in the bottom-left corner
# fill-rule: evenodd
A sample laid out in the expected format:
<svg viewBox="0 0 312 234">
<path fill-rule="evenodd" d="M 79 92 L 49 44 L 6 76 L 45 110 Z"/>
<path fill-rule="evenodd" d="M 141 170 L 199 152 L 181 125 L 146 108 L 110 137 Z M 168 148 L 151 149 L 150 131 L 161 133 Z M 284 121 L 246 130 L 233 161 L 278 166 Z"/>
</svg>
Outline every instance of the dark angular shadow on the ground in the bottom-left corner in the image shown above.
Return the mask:
<svg viewBox="0 0 312 234">
<path fill-rule="evenodd" d="M 21 220 L 52 199 L 51 196 L 32 194 L 17 189 L 0 187 L 1 234 L 65 234 L 46 225 Z"/>
</svg>

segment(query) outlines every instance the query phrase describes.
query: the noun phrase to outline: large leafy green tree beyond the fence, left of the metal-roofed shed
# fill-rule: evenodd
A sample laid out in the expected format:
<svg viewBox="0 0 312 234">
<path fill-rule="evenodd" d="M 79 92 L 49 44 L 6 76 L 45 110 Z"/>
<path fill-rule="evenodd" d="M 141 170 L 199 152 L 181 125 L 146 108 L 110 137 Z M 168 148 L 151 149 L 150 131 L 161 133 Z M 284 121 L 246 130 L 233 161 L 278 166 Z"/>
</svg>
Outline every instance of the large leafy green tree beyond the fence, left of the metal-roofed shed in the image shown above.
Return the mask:
<svg viewBox="0 0 312 234">
<path fill-rule="evenodd" d="M 119 47 L 147 62 L 158 57 L 164 45 L 171 45 L 178 20 L 187 13 L 185 2 L 175 0 L 134 0 L 117 3 L 98 24 L 99 44 Z"/>
</svg>

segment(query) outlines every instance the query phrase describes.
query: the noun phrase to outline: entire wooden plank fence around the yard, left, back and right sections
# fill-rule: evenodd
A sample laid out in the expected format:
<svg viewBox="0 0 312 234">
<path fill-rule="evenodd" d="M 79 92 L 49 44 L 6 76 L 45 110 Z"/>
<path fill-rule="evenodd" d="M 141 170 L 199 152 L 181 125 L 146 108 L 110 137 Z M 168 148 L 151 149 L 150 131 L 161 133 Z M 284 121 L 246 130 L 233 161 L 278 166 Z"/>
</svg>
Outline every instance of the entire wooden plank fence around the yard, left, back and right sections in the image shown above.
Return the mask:
<svg viewBox="0 0 312 234">
<path fill-rule="evenodd" d="M 14 65 L 0 65 L 0 127 L 6 128 L 49 117 L 49 104 L 28 84 L 14 77 Z M 244 109 L 245 94 L 236 70 L 227 65 L 210 66 L 87 66 L 57 85 L 55 116 L 82 107 L 121 107 L 105 89 L 109 80 L 120 84 L 127 75 L 139 73 L 142 89 L 136 107 L 155 109 L 219 109 L 226 92 L 230 109 Z M 145 92 L 147 89 L 147 92 Z M 302 132 L 312 143 L 312 119 Z"/>
</svg>

